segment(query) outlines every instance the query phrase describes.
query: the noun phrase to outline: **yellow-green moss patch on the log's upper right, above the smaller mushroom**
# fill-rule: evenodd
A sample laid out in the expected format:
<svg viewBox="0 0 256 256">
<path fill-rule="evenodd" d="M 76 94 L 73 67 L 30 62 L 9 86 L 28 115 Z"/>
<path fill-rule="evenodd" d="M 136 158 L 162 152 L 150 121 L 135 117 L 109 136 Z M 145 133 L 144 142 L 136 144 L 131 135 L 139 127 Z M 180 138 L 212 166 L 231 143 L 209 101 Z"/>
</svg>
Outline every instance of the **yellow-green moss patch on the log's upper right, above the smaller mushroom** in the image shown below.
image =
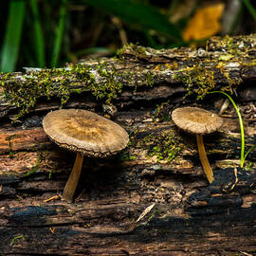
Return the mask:
<svg viewBox="0 0 256 256">
<path fill-rule="evenodd" d="M 205 59 L 202 62 L 197 61 L 193 66 L 181 69 L 175 75 L 175 79 L 178 82 L 184 83 L 188 92 L 187 95 L 196 93 L 198 99 L 204 98 L 210 90 L 214 89 L 220 73 L 227 79 L 228 83 L 227 85 L 222 85 L 221 90 L 232 93 L 236 89 L 242 79 L 239 75 L 229 72 L 229 68 L 226 65 L 230 64 L 230 62 L 241 66 L 255 64 L 253 58 L 249 56 L 249 52 L 252 49 L 251 45 L 255 44 L 255 36 L 253 35 L 235 38 L 225 36 L 223 39 L 217 37 L 212 38 L 209 42 L 212 44 L 211 50 L 225 50 L 218 60 Z M 250 59 L 251 61 L 248 62 L 247 60 Z"/>
</svg>

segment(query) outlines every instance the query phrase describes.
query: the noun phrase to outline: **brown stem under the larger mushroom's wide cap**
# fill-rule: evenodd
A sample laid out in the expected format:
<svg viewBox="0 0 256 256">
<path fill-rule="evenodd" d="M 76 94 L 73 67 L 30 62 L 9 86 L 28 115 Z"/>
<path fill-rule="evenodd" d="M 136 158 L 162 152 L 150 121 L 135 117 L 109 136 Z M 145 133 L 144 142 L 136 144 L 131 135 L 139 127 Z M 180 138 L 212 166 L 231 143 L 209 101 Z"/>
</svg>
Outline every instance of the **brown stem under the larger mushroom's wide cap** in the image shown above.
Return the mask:
<svg viewBox="0 0 256 256">
<path fill-rule="evenodd" d="M 77 153 L 76 161 L 73 166 L 72 172 L 69 175 L 69 178 L 64 186 L 63 198 L 69 203 L 73 201 L 73 196 L 78 186 L 78 182 L 79 182 L 79 178 L 82 170 L 82 160 L 83 160 L 83 155 L 81 153 Z"/>
</svg>

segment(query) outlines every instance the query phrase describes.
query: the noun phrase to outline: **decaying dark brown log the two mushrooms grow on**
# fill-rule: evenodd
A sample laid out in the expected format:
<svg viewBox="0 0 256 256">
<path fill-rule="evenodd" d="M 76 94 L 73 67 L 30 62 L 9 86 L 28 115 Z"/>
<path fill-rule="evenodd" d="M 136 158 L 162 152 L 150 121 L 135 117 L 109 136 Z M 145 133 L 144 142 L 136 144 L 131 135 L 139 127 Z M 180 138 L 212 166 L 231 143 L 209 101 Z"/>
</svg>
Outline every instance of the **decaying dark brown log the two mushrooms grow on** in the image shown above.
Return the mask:
<svg viewBox="0 0 256 256">
<path fill-rule="evenodd" d="M 233 57 L 225 40 L 235 46 Z M 211 185 L 201 169 L 195 137 L 178 131 L 169 118 L 181 105 L 203 106 L 216 113 L 221 109 L 224 98 L 217 94 L 203 101 L 193 96 L 184 99 L 186 86 L 174 76 L 186 66 L 206 61 L 205 68 L 214 71 L 215 89 L 235 81 L 230 86 L 238 93 L 247 149 L 256 144 L 256 91 L 251 85 L 256 72 L 255 64 L 250 64 L 255 35 L 225 40 L 212 38 L 208 51 L 135 52 L 135 47 L 128 47 L 119 60 L 104 60 L 106 66 L 119 70 L 117 79 L 122 83 L 112 105 L 96 101 L 85 83 L 76 85 L 82 92 L 71 93 L 65 107 L 93 110 L 119 122 L 131 142 L 112 158 L 85 159 L 72 204 L 64 202 L 61 193 L 75 155 L 54 145 L 41 124 L 47 111 L 59 108 L 59 101 L 42 96 L 28 115 L 11 123 L 9 118 L 19 108 L 2 97 L 0 253 L 255 255 L 256 150 L 247 155 L 247 170 L 241 169 L 235 111 L 229 106 L 221 130 L 204 137 L 215 177 Z M 216 61 L 223 62 L 225 75 Z M 82 64 L 97 71 L 97 63 Z M 130 78 L 129 70 L 134 71 Z M 151 84 L 147 84 L 149 70 Z M 26 82 L 22 76 L 17 74 L 11 82 Z M 105 78 L 96 77 L 104 82 Z M 191 85 L 194 92 L 196 82 Z"/>
</svg>

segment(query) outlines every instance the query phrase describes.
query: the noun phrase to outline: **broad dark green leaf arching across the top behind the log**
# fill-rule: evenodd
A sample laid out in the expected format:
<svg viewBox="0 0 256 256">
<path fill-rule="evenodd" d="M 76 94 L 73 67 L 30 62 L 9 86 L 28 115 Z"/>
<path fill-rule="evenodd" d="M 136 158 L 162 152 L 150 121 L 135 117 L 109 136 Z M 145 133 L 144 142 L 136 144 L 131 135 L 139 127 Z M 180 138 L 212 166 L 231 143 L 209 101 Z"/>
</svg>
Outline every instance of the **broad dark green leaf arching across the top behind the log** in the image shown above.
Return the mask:
<svg viewBox="0 0 256 256">
<path fill-rule="evenodd" d="M 153 6 L 133 0 L 81 0 L 73 2 L 82 2 L 102 9 L 112 15 L 118 16 L 124 22 L 138 25 L 143 29 L 155 29 L 172 38 L 174 42 L 181 40 L 180 30 L 169 22 L 166 15 L 161 14 Z"/>
</svg>

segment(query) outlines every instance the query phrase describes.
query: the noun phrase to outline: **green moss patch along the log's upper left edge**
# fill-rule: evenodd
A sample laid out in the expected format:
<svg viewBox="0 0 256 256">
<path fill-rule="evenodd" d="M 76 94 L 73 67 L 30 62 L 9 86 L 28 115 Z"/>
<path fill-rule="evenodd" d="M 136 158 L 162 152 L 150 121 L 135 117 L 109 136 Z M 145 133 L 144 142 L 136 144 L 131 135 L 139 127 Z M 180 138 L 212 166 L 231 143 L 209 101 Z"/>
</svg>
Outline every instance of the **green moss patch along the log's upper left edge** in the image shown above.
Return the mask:
<svg viewBox="0 0 256 256">
<path fill-rule="evenodd" d="M 99 76 L 101 83 L 96 82 L 94 74 Z M 32 71 L 20 77 L 15 73 L 0 73 L 0 81 L 2 96 L 19 108 L 14 120 L 27 114 L 41 97 L 47 100 L 58 97 L 62 107 L 69 100 L 71 92 L 91 91 L 96 99 L 110 103 L 122 88 L 117 70 L 104 63 L 99 63 L 94 70 L 88 65 L 74 64 L 68 68 Z"/>
</svg>

